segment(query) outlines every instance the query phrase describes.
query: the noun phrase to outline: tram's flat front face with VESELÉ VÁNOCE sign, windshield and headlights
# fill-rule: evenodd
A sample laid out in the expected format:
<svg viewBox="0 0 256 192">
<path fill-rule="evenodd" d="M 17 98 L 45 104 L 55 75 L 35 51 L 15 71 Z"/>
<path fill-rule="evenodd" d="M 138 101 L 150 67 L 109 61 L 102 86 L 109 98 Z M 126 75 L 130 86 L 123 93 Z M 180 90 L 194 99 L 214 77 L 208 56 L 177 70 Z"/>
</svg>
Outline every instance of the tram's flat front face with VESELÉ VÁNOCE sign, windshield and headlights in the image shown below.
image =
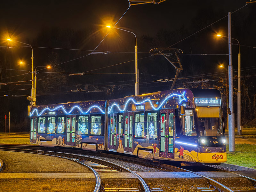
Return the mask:
<svg viewBox="0 0 256 192">
<path fill-rule="evenodd" d="M 227 161 L 226 138 L 221 108 L 221 98 L 194 98 L 197 156 L 201 163 Z"/>
</svg>

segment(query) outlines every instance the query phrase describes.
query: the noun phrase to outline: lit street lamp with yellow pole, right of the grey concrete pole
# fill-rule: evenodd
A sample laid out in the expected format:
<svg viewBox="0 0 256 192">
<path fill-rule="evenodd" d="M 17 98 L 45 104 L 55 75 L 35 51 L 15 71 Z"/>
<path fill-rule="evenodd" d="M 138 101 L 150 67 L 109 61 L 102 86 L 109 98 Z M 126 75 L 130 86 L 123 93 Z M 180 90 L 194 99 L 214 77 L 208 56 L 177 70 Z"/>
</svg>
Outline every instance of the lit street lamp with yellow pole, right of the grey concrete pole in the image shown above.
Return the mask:
<svg viewBox="0 0 256 192">
<path fill-rule="evenodd" d="M 228 38 L 227 36 L 222 36 L 220 34 L 218 34 L 217 36 Z M 241 105 L 242 104 L 241 104 L 241 54 L 240 54 L 240 43 L 235 38 L 231 38 L 231 39 L 234 39 L 238 42 L 237 134 L 241 135 L 242 130 L 240 130 L 240 126 L 241 126 L 241 113 L 242 113 Z"/>
</svg>

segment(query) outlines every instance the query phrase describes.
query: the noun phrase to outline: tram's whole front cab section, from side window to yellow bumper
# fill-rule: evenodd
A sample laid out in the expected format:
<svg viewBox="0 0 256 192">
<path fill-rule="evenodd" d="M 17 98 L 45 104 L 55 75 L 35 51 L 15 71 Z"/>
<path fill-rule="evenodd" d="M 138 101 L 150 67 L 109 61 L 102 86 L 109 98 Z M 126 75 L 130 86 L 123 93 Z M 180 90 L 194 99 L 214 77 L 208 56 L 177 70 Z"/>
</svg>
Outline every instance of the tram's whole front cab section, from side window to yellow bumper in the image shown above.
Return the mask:
<svg viewBox="0 0 256 192">
<path fill-rule="evenodd" d="M 205 164 L 226 162 L 226 138 L 220 91 L 190 91 L 193 96 L 190 95 L 189 102 L 184 102 L 184 105 L 180 106 L 180 118 L 176 120 L 175 161 Z"/>
</svg>

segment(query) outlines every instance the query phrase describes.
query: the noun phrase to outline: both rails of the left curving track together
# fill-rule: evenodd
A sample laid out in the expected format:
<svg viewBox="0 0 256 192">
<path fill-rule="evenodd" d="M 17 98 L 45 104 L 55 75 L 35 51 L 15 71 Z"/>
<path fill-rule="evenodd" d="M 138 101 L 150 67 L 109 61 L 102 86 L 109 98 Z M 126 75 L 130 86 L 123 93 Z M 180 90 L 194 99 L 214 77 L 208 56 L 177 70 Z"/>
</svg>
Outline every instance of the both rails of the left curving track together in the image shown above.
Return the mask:
<svg viewBox="0 0 256 192">
<path fill-rule="evenodd" d="M 83 155 L 78 155 L 78 154 L 71 154 L 71 153 L 64 153 L 64 152 L 53 152 L 53 151 L 45 151 L 45 150 L 40 150 L 40 148 L 36 148 L 36 149 L 25 149 L 25 146 L 23 145 L 22 148 L 19 148 L 19 146 L 2 146 L 0 145 L 0 150 L 6 150 L 6 151 L 16 151 L 16 152 L 27 152 L 27 153 L 35 153 L 35 154 L 42 154 L 42 155 L 50 155 L 50 156 L 57 156 L 57 157 L 61 157 L 61 158 L 66 158 L 72 161 L 76 161 L 80 164 L 83 164 L 87 167 L 89 167 L 96 178 L 96 187 L 94 189 L 93 192 L 98 192 L 100 190 L 100 175 L 98 174 L 98 172 L 93 168 L 93 166 L 99 166 L 99 164 L 93 164 L 92 162 L 99 162 L 100 164 L 103 165 L 109 165 L 111 167 L 116 167 L 119 170 L 122 170 L 124 172 L 130 172 L 133 175 L 135 175 L 141 185 L 142 188 L 144 189 L 145 192 L 150 192 L 150 189 L 148 187 L 148 185 L 146 184 L 146 182 L 140 177 L 140 175 L 138 175 L 136 172 L 131 171 L 130 169 L 123 167 L 121 165 L 106 161 L 106 160 L 102 160 L 102 159 L 98 159 L 98 158 L 94 158 L 94 157 L 89 157 L 89 156 L 83 156 Z M 81 159 L 86 159 L 88 161 L 83 161 Z M 86 164 L 88 163 L 88 165 Z M 92 166 L 92 167 L 90 167 Z"/>
</svg>

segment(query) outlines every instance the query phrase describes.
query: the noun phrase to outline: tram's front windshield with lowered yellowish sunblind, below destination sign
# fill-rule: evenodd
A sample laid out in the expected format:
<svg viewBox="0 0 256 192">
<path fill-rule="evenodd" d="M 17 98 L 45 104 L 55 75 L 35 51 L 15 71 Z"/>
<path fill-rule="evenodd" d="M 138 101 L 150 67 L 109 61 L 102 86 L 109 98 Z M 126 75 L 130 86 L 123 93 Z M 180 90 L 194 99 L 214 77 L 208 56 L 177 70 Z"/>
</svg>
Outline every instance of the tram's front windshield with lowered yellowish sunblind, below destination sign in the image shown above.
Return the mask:
<svg viewBox="0 0 256 192">
<path fill-rule="evenodd" d="M 223 135 L 223 120 L 220 107 L 196 107 L 198 130 L 201 136 Z"/>
</svg>

